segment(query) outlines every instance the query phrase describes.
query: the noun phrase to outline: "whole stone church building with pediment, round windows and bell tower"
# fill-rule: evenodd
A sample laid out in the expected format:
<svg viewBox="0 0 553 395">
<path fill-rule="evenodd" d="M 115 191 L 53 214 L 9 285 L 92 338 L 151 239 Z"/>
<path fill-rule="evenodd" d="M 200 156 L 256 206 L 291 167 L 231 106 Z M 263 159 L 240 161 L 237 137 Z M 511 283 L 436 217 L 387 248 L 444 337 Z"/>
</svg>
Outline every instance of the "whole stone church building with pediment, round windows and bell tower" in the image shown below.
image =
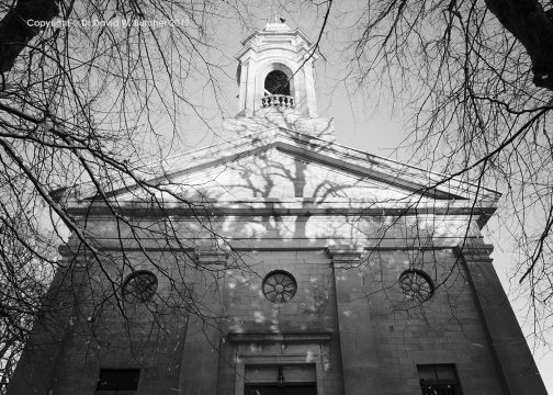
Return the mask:
<svg viewBox="0 0 553 395">
<path fill-rule="evenodd" d="M 241 42 L 226 142 L 81 224 L 10 395 L 545 395 L 481 229 L 499 194 L 335 143 L 312 42 Z"/>
</svg>

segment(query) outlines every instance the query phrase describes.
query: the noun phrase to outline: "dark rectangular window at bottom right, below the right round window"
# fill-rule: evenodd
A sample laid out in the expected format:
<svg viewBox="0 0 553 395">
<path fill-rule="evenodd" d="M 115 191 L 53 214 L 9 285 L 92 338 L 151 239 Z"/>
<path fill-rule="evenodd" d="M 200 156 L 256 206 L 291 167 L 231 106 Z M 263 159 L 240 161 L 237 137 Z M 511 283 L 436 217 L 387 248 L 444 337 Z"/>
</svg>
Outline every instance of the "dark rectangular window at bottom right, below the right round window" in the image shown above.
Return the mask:
<svg viewBox="0 0 553 395">
<path fill-rule="evenodd" d="M 454 364 L 417 365 L 422 395 L 462 395 Z"/>
</svg>

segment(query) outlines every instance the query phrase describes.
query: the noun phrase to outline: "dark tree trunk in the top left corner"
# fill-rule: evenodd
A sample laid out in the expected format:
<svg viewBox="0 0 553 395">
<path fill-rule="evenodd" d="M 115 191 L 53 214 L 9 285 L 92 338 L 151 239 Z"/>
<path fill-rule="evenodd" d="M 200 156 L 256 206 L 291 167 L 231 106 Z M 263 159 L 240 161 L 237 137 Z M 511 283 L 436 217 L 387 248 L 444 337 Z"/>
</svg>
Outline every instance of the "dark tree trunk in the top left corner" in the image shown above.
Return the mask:
<svg viewBox="0 0 553 395">
<path fill-rule="evenodd" d="M 41 31 L 27 21 L 52 21 L 57 13 L 57 0 L 18 1 L 0 21 L 0 74 L 13 67 L 18 55 Z"/>
</svg>

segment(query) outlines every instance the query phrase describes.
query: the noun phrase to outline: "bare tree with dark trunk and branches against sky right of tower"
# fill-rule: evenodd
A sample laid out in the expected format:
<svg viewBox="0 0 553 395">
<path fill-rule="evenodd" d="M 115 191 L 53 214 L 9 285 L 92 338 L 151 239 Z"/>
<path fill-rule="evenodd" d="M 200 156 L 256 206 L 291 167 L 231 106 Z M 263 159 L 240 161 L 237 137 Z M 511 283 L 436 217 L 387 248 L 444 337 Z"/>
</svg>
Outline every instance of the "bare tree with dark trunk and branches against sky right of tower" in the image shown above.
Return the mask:
<svg viewBox="0 0 553 395">
<path fill-rule="evenodd" d="M 390 0 L 342 12 L 354 21 L 342 56 L 356 89 L 404 103 L 411 162 L 504 194 L 499 229 L 541 336 L 553 295 L 551 3 Z"/>
</svg>

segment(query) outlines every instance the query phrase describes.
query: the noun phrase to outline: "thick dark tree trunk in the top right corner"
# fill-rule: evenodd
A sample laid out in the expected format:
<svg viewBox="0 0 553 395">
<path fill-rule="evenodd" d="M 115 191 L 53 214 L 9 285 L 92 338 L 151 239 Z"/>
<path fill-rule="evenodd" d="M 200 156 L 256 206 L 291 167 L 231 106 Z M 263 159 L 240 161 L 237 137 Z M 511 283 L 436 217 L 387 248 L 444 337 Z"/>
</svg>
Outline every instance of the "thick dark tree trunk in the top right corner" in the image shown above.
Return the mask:
<svg viewBox="0 0 553 395">
<path fill-rule="evenodd" d="M 553 22 L 537 0 L 485 0 L 499 22 L 524 46 L 533 82 L 553 90 Z"/>
</svg>

